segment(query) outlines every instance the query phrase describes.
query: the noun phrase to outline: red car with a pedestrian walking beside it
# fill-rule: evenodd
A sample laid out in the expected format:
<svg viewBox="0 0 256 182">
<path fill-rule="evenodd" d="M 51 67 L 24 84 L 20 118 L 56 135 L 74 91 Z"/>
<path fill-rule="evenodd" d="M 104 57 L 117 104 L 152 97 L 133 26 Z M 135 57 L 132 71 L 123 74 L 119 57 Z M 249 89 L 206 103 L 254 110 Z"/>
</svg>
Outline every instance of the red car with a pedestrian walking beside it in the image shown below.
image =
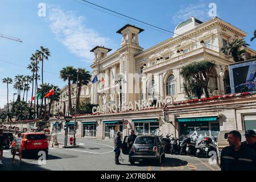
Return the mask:
<svg viewBox="0 0 256 182">
<path fill-rule="evenodd" d="M 22 138 L 22 155 L 28 153 L 38 154 L 39 151 L 45 151 L 46 156 L 48 156 L 48 140 L 44 133 L 23 133 Z M 13 148 L 15 143 L 11 145 L 11 154 L 13 154 Z"/>
</svg>

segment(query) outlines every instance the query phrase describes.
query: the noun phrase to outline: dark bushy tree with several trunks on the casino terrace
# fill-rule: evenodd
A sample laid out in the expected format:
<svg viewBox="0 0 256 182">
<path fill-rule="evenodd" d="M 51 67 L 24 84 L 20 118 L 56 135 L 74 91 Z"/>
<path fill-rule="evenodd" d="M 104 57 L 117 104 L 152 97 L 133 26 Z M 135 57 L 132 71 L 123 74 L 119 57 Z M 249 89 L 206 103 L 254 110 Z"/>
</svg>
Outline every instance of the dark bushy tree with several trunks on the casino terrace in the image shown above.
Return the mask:
<svg viewBox="0 0 256 182">
<path fill-rule="evenodd" d="M 209 97 L 208 84 L 209 84 L 209 73 L 212 69 L 216 68 L 216 63 L 214 61 L 200 61 L 198 63 L 191 63 L 184 66 L 180 75 L 187 79 L 189 77 L 195 79 L 197 84 L 204 89 L 205 97 Z"/>
</svg>

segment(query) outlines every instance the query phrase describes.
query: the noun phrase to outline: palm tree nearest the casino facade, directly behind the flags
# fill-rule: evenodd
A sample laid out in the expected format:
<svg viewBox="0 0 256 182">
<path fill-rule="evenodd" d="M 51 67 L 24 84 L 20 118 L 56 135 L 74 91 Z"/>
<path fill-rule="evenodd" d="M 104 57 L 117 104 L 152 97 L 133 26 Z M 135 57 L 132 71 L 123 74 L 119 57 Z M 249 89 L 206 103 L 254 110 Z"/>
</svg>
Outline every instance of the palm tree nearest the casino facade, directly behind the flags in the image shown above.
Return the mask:
<svg viewBox="0 0 256 182">
<path fill-rule="evenodd" d="M 90 82 L 90 72 L 86 71 L 86 69 L 79 68 L 79 80 L 78 80 L 78 90 L 77 90 L 77 103 L 76 108 L 79 108 L 80 105 L 80 96 L 81 96 L 81 89 L 82 85 L 88 85 Z"/>
</svg>

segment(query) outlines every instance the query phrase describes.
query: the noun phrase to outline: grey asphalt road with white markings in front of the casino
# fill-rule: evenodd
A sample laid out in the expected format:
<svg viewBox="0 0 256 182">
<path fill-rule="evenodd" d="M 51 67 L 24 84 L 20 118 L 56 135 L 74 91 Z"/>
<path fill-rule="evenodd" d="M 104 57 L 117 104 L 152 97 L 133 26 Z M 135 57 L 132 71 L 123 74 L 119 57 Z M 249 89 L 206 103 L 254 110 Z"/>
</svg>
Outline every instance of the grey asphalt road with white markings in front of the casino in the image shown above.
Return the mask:
<svg viewBox="0 0 256 182">
<path fill-rule="evenodd" d="M 60 143 L 64 143 L 63 137 L 58 137 Z M 12 164 L 10 150 L 3 153 L 2 170 L 52 170 L 52 171 L 218 171 L 217 165 L 209 164 L 208 159 L 199 159 L 193 156 L 166 155 L 161 165 L 154 162 L 140 162 L 131 166 L 128 156 L 123 155 L 120 162 L 114 164 L 113 142 L 77 138 L 77 148 L 49 148 L 46 164 L 40 164 L 38 157 L 30 156 L 19 164 Z M 41 160 L 39 160 L 41 161 Z M 41 161 L 42 162 L 42 161 Z"/>
</svg>

